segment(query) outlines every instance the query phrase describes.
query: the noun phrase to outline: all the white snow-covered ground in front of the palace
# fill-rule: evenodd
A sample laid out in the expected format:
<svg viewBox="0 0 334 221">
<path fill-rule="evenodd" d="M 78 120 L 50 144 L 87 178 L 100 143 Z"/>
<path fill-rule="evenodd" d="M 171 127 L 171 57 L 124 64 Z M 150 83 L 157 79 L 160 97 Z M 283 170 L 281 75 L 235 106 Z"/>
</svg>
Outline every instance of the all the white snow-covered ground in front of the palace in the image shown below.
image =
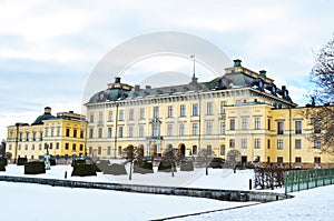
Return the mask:
<svg viewBox="0 0 334 221">
<path fill-rule="evenodd" d="M 46 174 L 29 175 L 39 178 L 68 179 L 82 181 L 114 182 L 128 181 L 128 177 L 98 173 L 97 177 L 71 178 L 70 165 L 52 167 Z M 180 177 L 183 173 L 177 172 Z M 185 173 L 189 174 L 189 173 Z M 197 174 L 197 173 L 196 173 Z M 23 167 L 8 165 L 0 175 L 23 175 Z M 175 179 L 170 173 L 155 173 L 151 178 Z M 147 177 L 148 178 L 148 177 Z M 134 183 L 146 183 L 146 175 L 134 174 Z M 199 171 L 187 181 L 186 187 L 248 190 L 253 171 L 210 169 L 209 175 Z M 150 183 L 147 183 L 150 184 Z M 274 191 L 282 192 L 282 189 Z M 151 220 L 198 212 L 223 210 L 177 220 L 334 220 L 334 185 L 322 187 L 293 193 L 295 198 L 269 203 L 225 202 L 200 198 L 127 193 L 107 190 L 86 190 L 49 185 L 0 182 L 0 208 L 6 211 L 1 220 Z M 243 205 L 249 205 L 239 208 Z M 4 215 L 4 217 L 3 217 Z"/>
</svg>

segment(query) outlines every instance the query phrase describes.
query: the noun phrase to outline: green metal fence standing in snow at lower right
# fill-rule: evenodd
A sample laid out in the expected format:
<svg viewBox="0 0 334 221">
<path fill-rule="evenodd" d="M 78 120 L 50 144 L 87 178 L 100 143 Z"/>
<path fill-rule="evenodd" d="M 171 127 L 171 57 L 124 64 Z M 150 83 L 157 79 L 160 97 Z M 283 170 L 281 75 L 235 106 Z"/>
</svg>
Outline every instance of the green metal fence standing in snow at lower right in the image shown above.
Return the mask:
<svg viewBox="0 0 334 221">
<path fill-rule="evenodd" d="M 293 170 L 284 172 L 285 193 L 334 184 L 334 169 Z"/>
</svg>

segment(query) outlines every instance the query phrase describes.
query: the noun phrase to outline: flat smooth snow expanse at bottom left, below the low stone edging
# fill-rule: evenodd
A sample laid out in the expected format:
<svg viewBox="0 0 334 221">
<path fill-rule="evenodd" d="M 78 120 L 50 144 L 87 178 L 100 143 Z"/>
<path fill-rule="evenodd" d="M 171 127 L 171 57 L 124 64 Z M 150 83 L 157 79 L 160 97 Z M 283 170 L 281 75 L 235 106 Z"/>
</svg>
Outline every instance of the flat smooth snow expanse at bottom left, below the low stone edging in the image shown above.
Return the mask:
<svg viewBox="0 0 334 221">
<path fill-rule="evenodd" d="M 0 182 L 1 220 L 151 220 L 254 202 Z"/>
</svg>

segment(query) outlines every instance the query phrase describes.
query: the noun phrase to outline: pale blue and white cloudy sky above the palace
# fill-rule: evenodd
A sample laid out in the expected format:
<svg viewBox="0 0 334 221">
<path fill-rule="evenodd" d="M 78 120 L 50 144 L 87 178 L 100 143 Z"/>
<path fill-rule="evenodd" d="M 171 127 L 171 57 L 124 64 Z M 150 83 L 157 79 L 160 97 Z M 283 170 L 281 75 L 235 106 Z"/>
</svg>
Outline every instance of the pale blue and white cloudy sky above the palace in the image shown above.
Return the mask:
<svg viewBox="0 0 334 221">
<path fill-rule="evenodd" d="M 331 0 L 0 0 L 0 139 L 7 125 L 31 123 L 46 106 L 53 114 L 81 112 L 98 62 L 122 42 L 159 31 L 198 36 L 244 67 L 267 70 L 303 106 L 314 52 L 333 36 L 333 8 Z M 127 71 L 191 72 L 189 59 L 155 59 Z"/>
</svg>

